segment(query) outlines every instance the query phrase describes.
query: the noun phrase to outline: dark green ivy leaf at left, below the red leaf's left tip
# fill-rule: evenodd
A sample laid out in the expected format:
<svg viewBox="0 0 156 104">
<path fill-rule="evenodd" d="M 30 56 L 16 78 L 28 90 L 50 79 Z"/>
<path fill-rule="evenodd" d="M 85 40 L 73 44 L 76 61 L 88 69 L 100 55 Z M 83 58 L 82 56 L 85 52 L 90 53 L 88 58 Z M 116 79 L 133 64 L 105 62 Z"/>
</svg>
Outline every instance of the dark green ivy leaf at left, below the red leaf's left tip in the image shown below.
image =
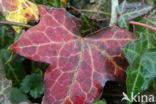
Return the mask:
<svg viewBox="0 0 156 104">
<path fill-rule="evenodd" d="M 9 59 L 10 54 L 11 54 L 10 51 L 6 49 L 1 49 L 0 59 L 2 59 L 4 68 L 6 69 L 7 78 L 12 80 L 13 86 L 19 87 L 22 79 L 26 75 L 24 66 L 22 64 L 23 58 L 5 64 Z"/>
</svg>

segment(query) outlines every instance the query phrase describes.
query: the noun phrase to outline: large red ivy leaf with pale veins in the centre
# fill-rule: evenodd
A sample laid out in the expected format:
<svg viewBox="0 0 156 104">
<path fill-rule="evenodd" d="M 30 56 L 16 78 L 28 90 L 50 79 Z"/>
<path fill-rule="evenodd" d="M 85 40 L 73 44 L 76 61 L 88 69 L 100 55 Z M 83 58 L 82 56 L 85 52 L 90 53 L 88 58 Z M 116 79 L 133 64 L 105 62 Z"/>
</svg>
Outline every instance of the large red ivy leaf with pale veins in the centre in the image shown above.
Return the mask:
<svg viewBox="0 0 156 104">
<path fill-rule="evenodd" d="M 10 49 L 34 61 L 50 63 L 43 104 L 90 104 L 108 80 L 125 80 L 127 61 L 120 47 L 135 37 L 108 27 L 82 38 L 78 20 L 64 9 L 40 7 L 40 23 Z"/>
</svg>

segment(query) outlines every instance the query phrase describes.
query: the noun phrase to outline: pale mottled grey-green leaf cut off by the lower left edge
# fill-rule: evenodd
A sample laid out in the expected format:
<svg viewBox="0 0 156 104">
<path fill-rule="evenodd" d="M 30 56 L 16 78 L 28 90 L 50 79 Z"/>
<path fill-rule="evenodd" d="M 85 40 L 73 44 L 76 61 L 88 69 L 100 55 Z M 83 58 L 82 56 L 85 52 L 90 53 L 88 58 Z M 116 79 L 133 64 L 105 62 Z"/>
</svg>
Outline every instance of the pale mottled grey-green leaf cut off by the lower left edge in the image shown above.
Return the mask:
<svg viewBox="0 0 156 104">
<path fill-rule="evenodd" d="M 7 80 L 5 76 L 4 67 L 0 60 L 0 104 L 11 104 L 10 94 L 11 94 L 12 82 Z"/>
</svg>

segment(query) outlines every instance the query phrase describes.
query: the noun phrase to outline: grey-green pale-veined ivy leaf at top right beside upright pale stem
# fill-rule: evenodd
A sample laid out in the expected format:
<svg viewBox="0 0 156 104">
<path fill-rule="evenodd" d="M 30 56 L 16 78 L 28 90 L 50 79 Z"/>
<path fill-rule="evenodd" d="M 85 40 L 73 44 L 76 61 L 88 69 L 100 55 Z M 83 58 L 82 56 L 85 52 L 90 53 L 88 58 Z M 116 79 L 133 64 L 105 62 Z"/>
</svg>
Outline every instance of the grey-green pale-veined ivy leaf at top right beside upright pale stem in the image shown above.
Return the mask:
<svg viewBox="0 0 156 104">
<path fill-rule="evenodd" d="M 138 16 L 144 15 L 152 9 L 152 6 L 141 5 L 139 2 L 129 3 L 124 0 L 118 7 L 117 12 L 120 14 L 119 18 L 125 18 L 127 21 Z"/>
</svg>

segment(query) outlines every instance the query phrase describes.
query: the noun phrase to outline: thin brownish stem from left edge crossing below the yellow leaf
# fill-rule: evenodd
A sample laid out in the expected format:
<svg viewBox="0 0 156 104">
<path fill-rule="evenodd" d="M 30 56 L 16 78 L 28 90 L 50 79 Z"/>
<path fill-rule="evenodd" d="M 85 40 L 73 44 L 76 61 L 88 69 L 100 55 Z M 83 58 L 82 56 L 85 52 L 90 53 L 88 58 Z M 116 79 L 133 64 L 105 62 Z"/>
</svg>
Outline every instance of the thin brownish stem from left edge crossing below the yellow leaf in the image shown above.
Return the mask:
<svg viewBox="0 0 156 104">
<path fill-rule="evenodd" d="M 26 24 L 21 24 L 21 23 L 17 23 L 17 22 L 10 22 L 10 21 L 0 21 L 0 25 L 13 25 L 13 26 L 19 26 L 19 27 L 23 27 L 23 28 L 31 28 L 31 25 L 26 25 Z"/>
</svg>

